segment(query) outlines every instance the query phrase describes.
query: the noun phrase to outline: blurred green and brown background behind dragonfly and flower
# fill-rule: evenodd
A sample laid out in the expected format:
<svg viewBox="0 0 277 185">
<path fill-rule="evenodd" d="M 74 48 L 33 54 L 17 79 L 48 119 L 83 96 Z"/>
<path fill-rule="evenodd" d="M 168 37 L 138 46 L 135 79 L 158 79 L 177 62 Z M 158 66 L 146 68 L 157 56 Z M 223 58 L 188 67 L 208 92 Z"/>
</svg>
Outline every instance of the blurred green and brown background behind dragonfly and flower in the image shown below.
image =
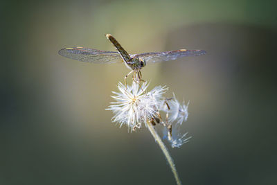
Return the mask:
<svg viewBox="0 0 277 185">
<path fill-rule="evenodd" d="M 148 64 L 150 88 L 190 100 L 183 184 L 277 184 L 276 1 L 1 1 L 0 184 L 175 184 L 145 127 L 106 111 L 129 71 L 59 49 L 203 49 Z"/>
</svg>

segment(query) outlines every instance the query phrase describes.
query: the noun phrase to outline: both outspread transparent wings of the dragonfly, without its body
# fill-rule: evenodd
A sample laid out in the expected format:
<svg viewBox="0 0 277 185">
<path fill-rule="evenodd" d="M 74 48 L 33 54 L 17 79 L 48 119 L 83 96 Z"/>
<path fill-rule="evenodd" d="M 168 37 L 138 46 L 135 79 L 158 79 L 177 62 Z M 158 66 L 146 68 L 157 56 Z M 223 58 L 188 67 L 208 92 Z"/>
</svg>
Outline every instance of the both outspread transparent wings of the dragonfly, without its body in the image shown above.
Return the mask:
<svg viewBox="0 0 277 185">
<path fill-rule="evenodd" d="M 176 60 L 177 58 L 187 57 L 187 56 L 197 56 L 204 55 L 206 51 L 203 50 L 186 50 L 180 49 L 175 51 L 166 52 L 153 52 L 153 53 L 141 53 L 131 55 L 131 58 L 141 58 L 148 62 L 162 62 L 168 60 Z M 96 64 L 111 64 L 111 63 L 121 63 L 123 59 L 120 57 L 118 52 L 114 51 L 100 51 L 97 49 L 88 49 L 84 47 L 72 47 L 65 48 L 59 51 L 59 54 L 71 58 L 73 60 L 79 60 L 82 62 L 90 62 Z"/>
</svg>

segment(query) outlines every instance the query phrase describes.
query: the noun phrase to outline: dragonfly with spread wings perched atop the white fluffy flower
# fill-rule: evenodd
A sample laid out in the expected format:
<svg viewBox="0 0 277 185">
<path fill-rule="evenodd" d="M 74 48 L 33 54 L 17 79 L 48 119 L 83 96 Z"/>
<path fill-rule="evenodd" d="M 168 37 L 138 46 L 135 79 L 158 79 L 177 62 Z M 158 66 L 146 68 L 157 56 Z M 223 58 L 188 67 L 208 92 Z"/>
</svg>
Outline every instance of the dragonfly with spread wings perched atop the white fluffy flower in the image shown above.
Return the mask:
<svg viewBox="0 0 277 185">
<path fill-rule="evenodd" d="M 175 51 L 165 52 L 152 52 L 129 55 L 125 49 L 111 36 L 106 35 L 107 39 L 114 44 L 117 52 L 115 51 L 101 51 L 98 49 L 88 49 L 81 46 L 61 49 L 58 53 L 66 58 L 73 60 L 79 60 L 82 62 L 90 62 L 96 64 L 111 64 L 111 63 L 123 63 L 130 71 L 124 78 L 125 86 L 126 78 L 133 73 L 133 80 L 140 82 L 142 79 L 141 68 L 145 67 L 148 62 L 162 62 L 168 60 L 176 60 L 186 56 L 204 55 L 206 51 L 203 50 L 187 50 L 179 49 Z"/>
</svg>

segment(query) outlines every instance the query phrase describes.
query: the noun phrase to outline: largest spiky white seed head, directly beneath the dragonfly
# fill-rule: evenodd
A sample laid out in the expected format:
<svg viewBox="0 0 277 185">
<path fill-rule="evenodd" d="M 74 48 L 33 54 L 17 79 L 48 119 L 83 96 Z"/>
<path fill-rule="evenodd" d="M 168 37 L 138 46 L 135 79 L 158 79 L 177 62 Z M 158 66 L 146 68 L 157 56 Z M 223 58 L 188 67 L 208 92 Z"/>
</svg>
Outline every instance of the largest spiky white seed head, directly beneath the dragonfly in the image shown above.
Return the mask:
<svg viewBox="0 0 277 185">
<path fill-rule="evenodd" d="M 139 83 L 133 82 L 131 86 L 118 83 L 120 92 L 112 92 L 115 96 L 111 96 L 116 100 L 109 105 L 107 110 L 114 112 L 114 117 L 111 118 L 113 122 L 127 125 L 129 129 L 136 130 L 141 127 L 141 123 L 149 121 L 151 118 L 157 116 L 158 105 L 161 95 L 166 92 L 166 87 L 155 87 L 148 93 L 147 82 L 143 82 L 140 86 Z"/>
</svg>

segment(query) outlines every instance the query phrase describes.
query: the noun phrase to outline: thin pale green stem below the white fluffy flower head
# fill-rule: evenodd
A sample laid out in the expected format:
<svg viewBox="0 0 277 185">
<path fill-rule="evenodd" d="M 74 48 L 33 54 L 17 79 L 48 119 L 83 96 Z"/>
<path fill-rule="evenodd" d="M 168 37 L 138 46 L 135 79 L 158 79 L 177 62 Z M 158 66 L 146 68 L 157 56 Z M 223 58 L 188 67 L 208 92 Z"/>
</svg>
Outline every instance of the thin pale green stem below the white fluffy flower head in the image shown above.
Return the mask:
<svg viewBox="0 0 277 185">
<path fill-rule="evenodd" d="M 159 147 L 163 151 L 163 154 L 166 156 L 166 160 L 168 160 L 168 164 L 169 164 L 169 166 L 172 170 L 172 173 L 176 179 L 177 185 L 181 185 L 181 179 L 179 178 L 177 169 L 175 168 L 175 164 L 173 162 L 172 157 L 170 156 L 170 153 L 168 152 L 168 149 L 166 148 L 163 141 L 161 141 L 161 138 L 160 138 L 159 134 L 156 132 L 156 130 L 154 129 L 152 123 L 150 123 L 150 121 L 147 121 L 147 124 L 148 124 L 148 130 L 150 131 L 150 133 L 154 137 L 155 141 L 158 143 Z"/>
</svg>

